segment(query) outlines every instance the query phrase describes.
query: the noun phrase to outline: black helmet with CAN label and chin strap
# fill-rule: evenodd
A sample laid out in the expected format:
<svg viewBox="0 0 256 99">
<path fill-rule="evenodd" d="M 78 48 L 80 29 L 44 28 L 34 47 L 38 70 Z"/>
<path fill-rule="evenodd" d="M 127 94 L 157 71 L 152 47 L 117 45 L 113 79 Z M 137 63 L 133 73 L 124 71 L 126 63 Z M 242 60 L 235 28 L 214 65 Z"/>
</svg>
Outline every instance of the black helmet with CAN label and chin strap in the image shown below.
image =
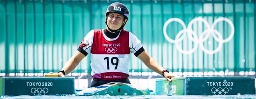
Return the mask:
<svg viewBox="0 0 256 99">
<path fill-rule="evenodd" d="M 127 8 L 127 6 L 125 6 L 124 4 L 122 3 L 119 3 L 119 2 L 115 2 L 115 3 L 112 3 L 108 6 L 108 9 L 106 11 L 106 25 L 108 27 L 108 24 L 107 24 L 107 16 L 110 12 L 114 12 L 114 13 L 118 13 L 118 14 L 121 14 L 124 16 L 124 19 L 128 20 L 128 15 L 129 15 L 129 10 Z M 127 22 L 127 21 L 126 21 Z M 111 31 L 111 32 L 117 32 L 119 30 L 121 30 L 122 28 L 124 28 L 124 25 L 126 24 L 126 22 L 118 29 L 118 30 L 111 30 L 109 27 L 108 29 Z"/>
</svg>

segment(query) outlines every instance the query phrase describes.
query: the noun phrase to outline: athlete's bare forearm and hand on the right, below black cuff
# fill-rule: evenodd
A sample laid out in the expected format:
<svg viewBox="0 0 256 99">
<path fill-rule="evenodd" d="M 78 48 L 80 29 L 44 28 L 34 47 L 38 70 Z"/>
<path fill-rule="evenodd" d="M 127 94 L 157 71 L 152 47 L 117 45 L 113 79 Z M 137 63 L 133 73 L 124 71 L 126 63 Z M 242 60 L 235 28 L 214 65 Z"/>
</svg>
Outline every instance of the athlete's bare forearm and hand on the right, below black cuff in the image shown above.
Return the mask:
<svg viewBox="0 0 256 99">
<path fill-rule="evenodd" d="M 138 58 L 146 65 L 148 66 L 148 68 L 150 68 L 151 70 L 155 71 L 156 73 L 161 74 L 162 71 L 164 70 L 164 68 L 156 61 L 156 59 L 154 59 L 153 57 L 151 57 L 150 55 L 148 55 L 148 53 L 146 51 L 143 51 L 142 53 L 140 53 L 138 55 Z M 172 77 L 176 77 L 175 75 L 172 75 L 171 73 L 168 72 L 164 72 L 164 77 L 168 80 L 171 81 Z"/>
</svg>

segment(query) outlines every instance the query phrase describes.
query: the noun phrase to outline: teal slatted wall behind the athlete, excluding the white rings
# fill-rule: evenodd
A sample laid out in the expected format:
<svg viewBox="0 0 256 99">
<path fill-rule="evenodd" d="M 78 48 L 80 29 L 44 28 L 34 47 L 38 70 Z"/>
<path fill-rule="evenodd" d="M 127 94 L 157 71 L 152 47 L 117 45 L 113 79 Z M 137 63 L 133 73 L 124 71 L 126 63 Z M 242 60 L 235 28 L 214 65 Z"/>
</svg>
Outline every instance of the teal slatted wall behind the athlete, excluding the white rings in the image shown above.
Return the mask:
<svg viewBox="0 0 256 99">
<path fill-rule="evenodd" d="M 146 51 L 170 71 L 255 71 L 256 1 L 255 0 L 132 0 L 123 1 L 130 10 L 126 30 L 133 32 Z M 105 28 L 105 12 L 110 1 L 61 0 L 0 0 L 0 73 L 58 71 L 78 48 L 91 29 Z M 186 26 L 196 17 L 210 24 L 219 17 L 232 21 L 234 37 L 223 44 L 218 53 L 207 54 L 197 48 L 192 54 L 180 53 L 175 44 L 163 35 L 163 25 L 170 18 L 180 18 Z M 199 36 L 204 24 L 194 24 Z M 169 24 L 167 33 L 175 39 L 181 25 Z M 217 24 L 223 38 L 230 26 Z M 185 38 L 180 45 L 192 49 Z M 210 43 L 209 43 L 210 42 Z M 204 43 L 215 49 L 218 42 L 212 36 Z M 150 71 L 132 55 L 130 71 Z M 90 72 L 88 57 L 75 72 Z M 88 71 L 89 70 L 89 71 Z"/>
</svg>

